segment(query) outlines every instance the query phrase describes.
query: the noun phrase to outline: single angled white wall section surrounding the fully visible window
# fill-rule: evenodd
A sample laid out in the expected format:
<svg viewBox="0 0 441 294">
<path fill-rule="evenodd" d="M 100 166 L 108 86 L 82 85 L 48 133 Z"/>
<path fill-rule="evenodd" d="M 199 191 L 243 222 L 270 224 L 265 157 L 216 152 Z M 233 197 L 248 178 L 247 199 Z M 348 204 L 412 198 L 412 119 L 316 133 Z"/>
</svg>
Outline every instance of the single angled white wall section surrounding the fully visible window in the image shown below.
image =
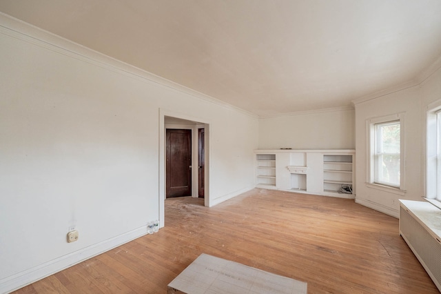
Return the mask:
<svg viewBox="0 0 441 294">
<path fill-rule="evenodd" d="M 404 195 L 367 184 L 367 119 L 404 112 Z M 398 217 L 398 199 L 421 199 L 420 88 L 393 92 L 356 104 L 356 202 Z M 401 138 L 403 139 L 403 138 Z"/>
</svg>

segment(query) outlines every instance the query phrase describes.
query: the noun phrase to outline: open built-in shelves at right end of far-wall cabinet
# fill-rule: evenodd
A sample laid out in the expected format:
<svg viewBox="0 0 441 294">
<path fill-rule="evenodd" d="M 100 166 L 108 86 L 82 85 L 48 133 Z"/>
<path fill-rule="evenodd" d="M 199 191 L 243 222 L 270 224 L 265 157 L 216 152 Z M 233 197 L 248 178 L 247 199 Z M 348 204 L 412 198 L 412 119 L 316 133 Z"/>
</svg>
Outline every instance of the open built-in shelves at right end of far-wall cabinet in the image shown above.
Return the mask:
<svg viewBox="0 0 441 294">
<path fill-rule="evenodd" d="M 323 155 L 323 191 L 352 194 L 352 155 Z"/>
</svg>

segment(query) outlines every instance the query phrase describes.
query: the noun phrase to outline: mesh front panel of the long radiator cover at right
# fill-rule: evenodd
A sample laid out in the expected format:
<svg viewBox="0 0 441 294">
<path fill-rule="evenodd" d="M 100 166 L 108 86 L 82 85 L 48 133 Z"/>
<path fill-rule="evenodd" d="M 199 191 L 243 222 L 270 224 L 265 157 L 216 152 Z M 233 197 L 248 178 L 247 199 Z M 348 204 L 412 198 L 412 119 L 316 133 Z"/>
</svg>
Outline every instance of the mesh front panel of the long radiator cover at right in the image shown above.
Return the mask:
<svg viewBox="0 0 441 294">
<path fill-rule="evenodd" d="M 400 206 L 400 235 L 409 245 L 422 266 L 424 266 L 424 269 L 438 287 L 438 290 L 441 291 L 440 239 L 431 235 L 427 228 L 409 213 L 409 209 L 403 206 Z"/>
</svg>

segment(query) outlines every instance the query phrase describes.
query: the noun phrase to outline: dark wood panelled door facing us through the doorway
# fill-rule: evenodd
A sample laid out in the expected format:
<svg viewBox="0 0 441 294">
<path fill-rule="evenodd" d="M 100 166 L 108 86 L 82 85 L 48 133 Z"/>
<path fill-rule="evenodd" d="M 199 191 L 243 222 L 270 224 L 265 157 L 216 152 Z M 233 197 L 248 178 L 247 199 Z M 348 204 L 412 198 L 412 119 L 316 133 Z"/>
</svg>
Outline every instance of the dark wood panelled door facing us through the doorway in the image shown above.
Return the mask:
<svg viewBox="0 0 441 294">
<path fill-rule="evenodd" d="M 166 130 L 165 197 L 192 195 L 192 130 Z"/>
</svg>

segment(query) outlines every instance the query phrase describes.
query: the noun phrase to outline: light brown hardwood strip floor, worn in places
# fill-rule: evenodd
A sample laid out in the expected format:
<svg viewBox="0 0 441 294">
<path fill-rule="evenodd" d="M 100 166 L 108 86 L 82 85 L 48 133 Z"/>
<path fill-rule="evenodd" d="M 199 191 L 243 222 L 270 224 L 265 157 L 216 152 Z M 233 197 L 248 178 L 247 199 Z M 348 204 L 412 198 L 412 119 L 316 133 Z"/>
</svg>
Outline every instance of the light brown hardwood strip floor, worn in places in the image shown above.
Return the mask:
<svg viewBox="0 0 441 294">
<path fill-rule="evenodd" d="M 350 199 L 254 189 L 212 208 L 165 201 L 165 228 L 17 293 L 167 293 L 198 255 L 308 283 L 308 293 L 438 293 L 398 219 Z"/>
</svg>

